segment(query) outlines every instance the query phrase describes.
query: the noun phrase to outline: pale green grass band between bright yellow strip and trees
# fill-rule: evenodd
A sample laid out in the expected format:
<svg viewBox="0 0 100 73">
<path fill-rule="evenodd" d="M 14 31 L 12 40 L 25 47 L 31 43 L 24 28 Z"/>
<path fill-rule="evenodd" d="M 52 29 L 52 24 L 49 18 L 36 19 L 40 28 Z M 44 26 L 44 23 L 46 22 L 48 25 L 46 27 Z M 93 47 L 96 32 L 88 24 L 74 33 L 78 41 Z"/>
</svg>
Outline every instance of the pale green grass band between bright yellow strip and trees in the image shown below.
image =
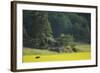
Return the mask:
<svg viewBox="0 0 100 73">
<path fill-rule="evenodd" d="M 91 46 L 89 44 L 76 44 L 75 48 L 77 52 L 91 51 Z M 70 52 L 62 52 L 62 53 L 70 53 Z M 53 54 L 59 54 L 59 53 L 55 51 L 45 50 L 45 49 L 23 48 L 23 55 L 53 55 Z"/>
</svg>

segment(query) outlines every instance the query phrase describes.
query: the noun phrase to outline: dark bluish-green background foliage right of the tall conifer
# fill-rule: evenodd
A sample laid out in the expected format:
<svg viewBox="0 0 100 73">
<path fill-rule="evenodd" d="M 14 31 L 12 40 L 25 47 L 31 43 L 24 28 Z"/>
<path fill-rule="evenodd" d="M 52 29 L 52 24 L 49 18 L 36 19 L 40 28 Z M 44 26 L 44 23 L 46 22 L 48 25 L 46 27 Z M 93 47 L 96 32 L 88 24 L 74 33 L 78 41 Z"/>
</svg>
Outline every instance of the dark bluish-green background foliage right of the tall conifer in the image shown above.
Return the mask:
<svg viewBox="0 0 100 73">
<path fill-rule="evenodd" d="M 49 12 L 54 37 L 71 34 L 77 42 L 90 43 L 91 16 L 88 13 Z"/>
</svg>

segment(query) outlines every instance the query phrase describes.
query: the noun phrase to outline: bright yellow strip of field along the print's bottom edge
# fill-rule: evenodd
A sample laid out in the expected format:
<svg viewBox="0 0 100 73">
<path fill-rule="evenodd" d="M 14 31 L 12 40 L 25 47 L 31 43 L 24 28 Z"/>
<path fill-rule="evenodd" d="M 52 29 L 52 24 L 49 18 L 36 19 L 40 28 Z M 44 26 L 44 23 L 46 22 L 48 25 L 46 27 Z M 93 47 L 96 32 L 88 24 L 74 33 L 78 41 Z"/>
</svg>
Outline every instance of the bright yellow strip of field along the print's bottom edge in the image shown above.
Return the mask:
<svg viewBox="0 0 100 73">
<path fill-rule="evenodd" d="M 87 60 L 87 59 L 91 59 L 90 52 L 23 56 L 23 62 L 69 61 L 69 60 L 71 61 L 71 60 Z"/>
</svg>

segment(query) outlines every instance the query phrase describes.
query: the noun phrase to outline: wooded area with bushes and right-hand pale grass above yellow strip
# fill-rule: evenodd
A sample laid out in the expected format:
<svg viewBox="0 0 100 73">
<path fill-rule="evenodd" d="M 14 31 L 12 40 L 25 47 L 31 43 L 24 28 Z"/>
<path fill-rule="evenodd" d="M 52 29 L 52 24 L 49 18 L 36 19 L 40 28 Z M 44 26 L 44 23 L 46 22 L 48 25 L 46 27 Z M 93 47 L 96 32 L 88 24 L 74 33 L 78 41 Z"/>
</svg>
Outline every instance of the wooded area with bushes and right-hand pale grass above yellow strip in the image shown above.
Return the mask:
<svg viewBox="0 0 100 73">
<path fill-rule="evenodd" d="M 90 13 L 23 10 L 24 48 L 48 53 L 79 52 L 90 51 L 90 44 Z"/>
</svg>

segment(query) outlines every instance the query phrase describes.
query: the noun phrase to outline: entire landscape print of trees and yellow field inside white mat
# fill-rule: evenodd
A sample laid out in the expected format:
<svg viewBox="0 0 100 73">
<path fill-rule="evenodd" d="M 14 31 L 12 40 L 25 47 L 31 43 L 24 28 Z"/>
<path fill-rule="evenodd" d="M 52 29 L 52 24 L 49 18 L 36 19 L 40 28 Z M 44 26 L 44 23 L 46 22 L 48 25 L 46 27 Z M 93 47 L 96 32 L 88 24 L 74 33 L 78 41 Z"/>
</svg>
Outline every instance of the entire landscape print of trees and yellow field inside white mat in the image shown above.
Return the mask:
<svg viewBox="0 0 100 73">
<path fill-rule="evenodd" d="M 23 10 L 23 62 L 91 59 L 91 13 Z"/>
</svg>

